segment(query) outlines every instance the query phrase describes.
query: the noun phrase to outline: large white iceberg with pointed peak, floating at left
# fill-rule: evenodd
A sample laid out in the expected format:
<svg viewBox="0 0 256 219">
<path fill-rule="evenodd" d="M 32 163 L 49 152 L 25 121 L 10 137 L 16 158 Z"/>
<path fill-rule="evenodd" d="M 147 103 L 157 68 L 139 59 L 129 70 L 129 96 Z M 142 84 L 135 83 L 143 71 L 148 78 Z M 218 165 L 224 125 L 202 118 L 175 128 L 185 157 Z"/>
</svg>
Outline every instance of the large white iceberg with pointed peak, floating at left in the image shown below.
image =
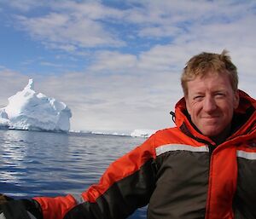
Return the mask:
<svg viewBox="0 0 256 219">
<path fill-rule="evenodd" d="M 64 131 L 70 128 L 71 110 L 61 101 L 34 90 L 33 80 L 9 97 L 7 107 L 0 109 L 0 126 L 15 130 Z"/>
</svg>

